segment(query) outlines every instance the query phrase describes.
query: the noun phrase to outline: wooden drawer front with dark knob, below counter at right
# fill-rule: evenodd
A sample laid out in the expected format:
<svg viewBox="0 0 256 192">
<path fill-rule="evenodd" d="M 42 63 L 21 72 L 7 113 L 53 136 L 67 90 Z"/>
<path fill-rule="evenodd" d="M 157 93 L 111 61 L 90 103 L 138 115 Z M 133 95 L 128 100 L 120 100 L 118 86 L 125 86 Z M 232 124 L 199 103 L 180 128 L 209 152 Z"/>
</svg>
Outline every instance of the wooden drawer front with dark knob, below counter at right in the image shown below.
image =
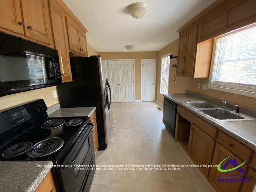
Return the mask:
<svg viewBox="0 0 256 192">
<path fill-rule="evenodd" d="M 228 136 L 223 132 L 219 132 L 217 141 L 220 142 L 224 147 L 228 148 L 233 154 L 240 154 L 239 157 L 242 160 L 250 158 L 252 150 L 235 140 L 234 138 Z"/>
</svg>

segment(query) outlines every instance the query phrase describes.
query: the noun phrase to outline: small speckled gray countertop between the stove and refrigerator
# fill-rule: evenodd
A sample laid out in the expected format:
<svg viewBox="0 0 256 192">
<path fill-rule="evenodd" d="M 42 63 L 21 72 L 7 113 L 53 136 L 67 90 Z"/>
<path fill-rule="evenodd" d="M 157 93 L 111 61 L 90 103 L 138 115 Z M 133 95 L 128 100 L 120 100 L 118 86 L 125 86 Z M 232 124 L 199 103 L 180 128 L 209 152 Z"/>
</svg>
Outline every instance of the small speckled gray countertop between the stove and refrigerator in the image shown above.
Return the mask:
<svg viewBox="0 0 256 192">
<path fill-rule="evenodd" d="M 50 115 L 50 118 L 58 118 L 58 117 L 81 117 L 81 116 L 88 116 L 90 117 L 96 107 L 72 107 L 72 108 L 60 108 Z"/>
</svg>

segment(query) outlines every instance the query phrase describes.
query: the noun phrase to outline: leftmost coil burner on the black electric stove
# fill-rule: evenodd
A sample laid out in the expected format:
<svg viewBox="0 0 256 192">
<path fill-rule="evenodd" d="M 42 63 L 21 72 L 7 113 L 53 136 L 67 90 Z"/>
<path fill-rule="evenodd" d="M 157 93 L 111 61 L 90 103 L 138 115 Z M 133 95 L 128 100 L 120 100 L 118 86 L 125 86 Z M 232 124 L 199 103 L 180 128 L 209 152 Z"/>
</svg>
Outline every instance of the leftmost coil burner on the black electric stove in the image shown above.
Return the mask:
<svg viewBox="0 0 256 192">
<path fill-rule="evenodd" d="M 16 157 L 27 152 L 32 147 L 32 145 L 32 142 L 22 142 L 15 144 L 14 146 L 11 146 L 8 149 L 6 149 L 2 153 L 2 156 L 4 158 Z"/>
</svg>

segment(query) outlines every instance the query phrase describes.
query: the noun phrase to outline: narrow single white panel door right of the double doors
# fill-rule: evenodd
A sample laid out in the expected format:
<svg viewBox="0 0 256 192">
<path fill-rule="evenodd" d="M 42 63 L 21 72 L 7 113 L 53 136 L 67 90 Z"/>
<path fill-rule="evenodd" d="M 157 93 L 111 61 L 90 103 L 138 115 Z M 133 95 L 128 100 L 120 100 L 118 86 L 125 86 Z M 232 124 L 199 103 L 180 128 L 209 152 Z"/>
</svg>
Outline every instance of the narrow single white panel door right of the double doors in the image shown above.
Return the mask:
<svg viewBox="0 0 256 192">
<path fill-rule="evenodd" d="M 155 98 L 155 74 L 156 60 L 142 59 L 142 82 L 141 82 L 141 100 L 154 101 Z"/>
</svg>

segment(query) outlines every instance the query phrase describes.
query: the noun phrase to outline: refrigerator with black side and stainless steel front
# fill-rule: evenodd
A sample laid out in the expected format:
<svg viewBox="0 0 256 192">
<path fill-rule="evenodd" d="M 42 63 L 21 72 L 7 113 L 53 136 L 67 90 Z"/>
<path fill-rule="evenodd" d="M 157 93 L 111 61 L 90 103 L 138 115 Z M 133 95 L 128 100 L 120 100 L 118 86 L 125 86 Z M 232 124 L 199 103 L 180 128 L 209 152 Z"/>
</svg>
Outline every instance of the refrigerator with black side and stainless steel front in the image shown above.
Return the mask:
<svg viewBox="0 0 256 192">
<path fill-rule="evenodd" d="M 70 58 L 70 64 L 73 81 L 57 86 L 60 106 L 95 106 L 99 150 L 104 150 L 113 124 L 108 66 L 100 56 Z"/>
</svg>

